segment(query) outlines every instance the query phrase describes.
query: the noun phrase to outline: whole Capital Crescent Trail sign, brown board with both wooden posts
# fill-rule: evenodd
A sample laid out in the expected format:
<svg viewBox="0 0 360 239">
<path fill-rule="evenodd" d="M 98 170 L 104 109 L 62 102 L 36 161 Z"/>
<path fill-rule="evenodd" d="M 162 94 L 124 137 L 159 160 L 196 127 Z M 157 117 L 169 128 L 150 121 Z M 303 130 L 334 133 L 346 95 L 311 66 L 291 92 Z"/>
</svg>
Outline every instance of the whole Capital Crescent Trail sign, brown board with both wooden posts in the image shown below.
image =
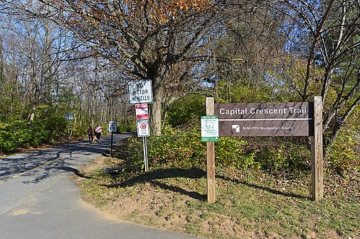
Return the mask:
<svg viewBox="0 0 360 239">
<path fill-rule="evenodd" d="M 312 200 L 323 197 L 322 97 L 312 102 L 214 104 L 206 98 L 206 116 L 218 116 L 220 136 L 310 136 Z M 206 142 L 208 203 L 215 202 L 215 145 Z"/>
</svg>

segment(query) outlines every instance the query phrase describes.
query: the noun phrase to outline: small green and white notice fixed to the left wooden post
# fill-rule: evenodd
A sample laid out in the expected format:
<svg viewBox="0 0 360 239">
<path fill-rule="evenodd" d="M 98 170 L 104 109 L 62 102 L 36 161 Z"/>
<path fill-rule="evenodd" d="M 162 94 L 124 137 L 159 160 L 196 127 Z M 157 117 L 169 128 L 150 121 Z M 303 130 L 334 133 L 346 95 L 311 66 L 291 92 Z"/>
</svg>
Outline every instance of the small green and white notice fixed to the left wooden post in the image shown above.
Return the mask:
<svg viewBox="0 0 360 239">
<path fill-rule="evenodd" d="M 201 142 L 218 142 L 218 116 L 201 116 Z"/>
</svg>

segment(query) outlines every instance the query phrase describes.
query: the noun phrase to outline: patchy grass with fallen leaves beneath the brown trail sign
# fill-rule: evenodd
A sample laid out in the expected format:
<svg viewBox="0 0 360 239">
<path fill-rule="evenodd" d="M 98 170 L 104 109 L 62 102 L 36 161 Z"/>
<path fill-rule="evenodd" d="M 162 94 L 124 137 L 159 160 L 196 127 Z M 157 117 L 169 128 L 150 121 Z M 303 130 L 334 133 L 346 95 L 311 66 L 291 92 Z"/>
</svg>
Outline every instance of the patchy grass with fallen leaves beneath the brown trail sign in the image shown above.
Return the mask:
<svg viewBox="0 0 360 239">
<path fill-rule="evenodd" d="M 203 238 L 360 238 L 359 172 L 324 172 L 324 199 L 310 200 L 309 174 L 216 169 L 216 203 L 199 168 L 129 169 L 104 157 L 78 179 L 84 198 L 120 220 Z M 123 165 L 120 174 L 103 167 Z"/>
</svg>

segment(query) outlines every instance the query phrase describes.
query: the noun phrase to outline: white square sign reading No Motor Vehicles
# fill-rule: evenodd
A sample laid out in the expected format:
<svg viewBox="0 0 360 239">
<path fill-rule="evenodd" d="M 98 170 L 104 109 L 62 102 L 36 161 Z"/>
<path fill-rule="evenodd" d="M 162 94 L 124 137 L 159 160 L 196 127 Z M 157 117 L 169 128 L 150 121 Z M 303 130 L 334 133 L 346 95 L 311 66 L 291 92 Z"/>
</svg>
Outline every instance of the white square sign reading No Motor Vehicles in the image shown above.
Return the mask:
<svg viewBox="0 0 360 239">
<path fill-rule="evenodd" d="M 152 80 L 128 82 L 130 104 L 152 104 Z"/>
</svg>

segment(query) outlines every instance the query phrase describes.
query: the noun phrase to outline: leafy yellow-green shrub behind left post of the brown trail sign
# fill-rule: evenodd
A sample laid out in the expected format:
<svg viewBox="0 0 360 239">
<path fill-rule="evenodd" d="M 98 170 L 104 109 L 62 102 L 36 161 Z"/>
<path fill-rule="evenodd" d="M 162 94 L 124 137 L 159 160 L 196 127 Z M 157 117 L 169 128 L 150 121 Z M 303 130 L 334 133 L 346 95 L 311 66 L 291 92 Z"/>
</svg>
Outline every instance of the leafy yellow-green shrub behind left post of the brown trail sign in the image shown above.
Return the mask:
<svg viewBox="0 0 360 239">
<path fill-rule="evenodd" d="M 149 159 L 162 167 L 206 168 L 206 143 L 201 142 L 200 122 L 192 128 L 166 126 L 162 136 L 149 140 Z M 246 142 L 240 138 L 220 138 L 215 143 L 218 167 L 258 168 L 253 153 L 245 152 Z"/>
</svg>

